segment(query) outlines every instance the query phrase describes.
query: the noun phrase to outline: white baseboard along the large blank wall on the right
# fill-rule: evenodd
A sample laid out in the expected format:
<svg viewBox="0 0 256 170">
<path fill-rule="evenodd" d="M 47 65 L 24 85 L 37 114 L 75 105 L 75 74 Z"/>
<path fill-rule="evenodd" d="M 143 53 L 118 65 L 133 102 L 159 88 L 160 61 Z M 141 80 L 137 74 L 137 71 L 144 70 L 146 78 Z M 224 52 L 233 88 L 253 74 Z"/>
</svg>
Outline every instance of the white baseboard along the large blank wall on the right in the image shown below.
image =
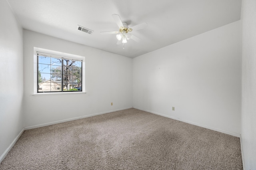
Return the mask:
<svg viewBox="0 0 256 170">
<path fill-rule="evenodd" d="M 206 125 L 201 125 L 201 124 L 190 122 L 190 121 L 186 121 L 186 120 L 183 120 L 183 119 L 178 119 L 176 117 L 172 117 L 172 116 L 168 116 L 168 115 L 163 115 L 161 113 L 152 112 L 152 111 L 148 111 L 148 110 L 145 110 L 145 109 L 140 109 L 140 108 L 137 108 L 137 107 L 133 107 L 133 108 L 134 109 L 139 109 L 139 110 L 142 110 L 142 111 L 146 111 L 146 112 L 149 112 L 149 113 L 153 113 L 153 114 L 156 114 L 156 115 L 160 115 L 160 116 L 163 116 L 163 117 L 168 117 L 170 119 L 174 119 L 174 120 L 177 120 L 177 121 L 182 121 L 182 122 L 185 122 L 185 123 L 196 125 L 196 126 L 199 126 L 199 127 L 208 128 L 210 130 L 215 130 L 215 131 L 222 132 L 222 133 L 225 133 L 225 134 L 230 134 L 232 136 L 236 136 L 236 137 L 240 138 L 240 134 L 238 134 L 238 133 L 229 132 L 229 131 L 226 131 L 226 130 L 222 130 L 222 129 L 218 129 L 218 128 L 213 128 L 213 127 L 208 127 Z"/>
</svg>

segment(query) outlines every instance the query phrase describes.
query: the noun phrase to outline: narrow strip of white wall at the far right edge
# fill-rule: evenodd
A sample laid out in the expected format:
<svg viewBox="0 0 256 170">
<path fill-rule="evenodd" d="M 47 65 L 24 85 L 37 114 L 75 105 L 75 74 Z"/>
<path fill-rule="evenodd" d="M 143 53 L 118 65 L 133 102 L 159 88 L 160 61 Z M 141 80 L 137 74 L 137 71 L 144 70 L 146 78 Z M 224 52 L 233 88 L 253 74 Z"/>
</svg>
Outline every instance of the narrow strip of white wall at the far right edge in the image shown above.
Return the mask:
<svg viewBox="0 0 256 170">
<path fill-rule="evenodd" d="M 242 1 L 242 149 L 246 170 L 256 169 L 256 1 Z"/>
</svg>

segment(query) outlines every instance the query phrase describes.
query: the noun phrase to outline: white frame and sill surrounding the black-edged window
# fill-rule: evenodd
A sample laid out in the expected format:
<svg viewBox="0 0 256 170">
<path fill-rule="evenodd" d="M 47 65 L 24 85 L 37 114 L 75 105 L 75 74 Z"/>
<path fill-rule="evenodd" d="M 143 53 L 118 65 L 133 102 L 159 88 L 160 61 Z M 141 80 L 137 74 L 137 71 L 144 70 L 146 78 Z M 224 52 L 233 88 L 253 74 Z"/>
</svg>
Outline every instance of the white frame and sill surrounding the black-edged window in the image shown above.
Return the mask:
<svg viewBox="0 0 256 170">
<path fill-rule="evenodd" d="M 82 60 L 82 91 L 73 91 L 72 93 L 65 93 L 65 92 L 38 93 L 37 92 L 37 87 L 38 87 L 37 52 L 50 53 L 52 55 L 60 55 L 60 56 L 63 56 L 65 58 L 68 58 L 68 59 Z M 84 94 L 84 93 L 86 93 L 86 91 L 85 91 L 85 57 L 84 56 L 74 55 L 74 54 L 69 54 L 69 53 L 63 53 L 63 52 L 59 52 L 59 51 L 53 51 L 53 50 L 50 50 L 50 49 L 43 49 L 43 48 L 34 47 L 34 93 L 32 95 L 70 95 L 70 94 L 74 95 L 74 94 Z"/>
</svg>

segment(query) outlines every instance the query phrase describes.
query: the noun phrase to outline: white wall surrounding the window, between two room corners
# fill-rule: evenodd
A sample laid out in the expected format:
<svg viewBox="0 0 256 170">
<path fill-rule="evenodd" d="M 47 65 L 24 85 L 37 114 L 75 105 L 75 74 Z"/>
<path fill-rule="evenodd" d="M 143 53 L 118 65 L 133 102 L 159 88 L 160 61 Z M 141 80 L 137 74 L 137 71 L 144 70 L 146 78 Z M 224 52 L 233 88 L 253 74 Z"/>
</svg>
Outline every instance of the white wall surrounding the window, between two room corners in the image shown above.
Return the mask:
<svg viewBox="0 0 256 170">
<path fill-rule="evenodd" d="M 28 30 L 24 30 L 23 34 L 25 127 L 33 128 L 132 107 L 131 58 Z M 87 93 L 32 95 L 34 47 L 85 56 L 84 83 Z"/>
</svg>

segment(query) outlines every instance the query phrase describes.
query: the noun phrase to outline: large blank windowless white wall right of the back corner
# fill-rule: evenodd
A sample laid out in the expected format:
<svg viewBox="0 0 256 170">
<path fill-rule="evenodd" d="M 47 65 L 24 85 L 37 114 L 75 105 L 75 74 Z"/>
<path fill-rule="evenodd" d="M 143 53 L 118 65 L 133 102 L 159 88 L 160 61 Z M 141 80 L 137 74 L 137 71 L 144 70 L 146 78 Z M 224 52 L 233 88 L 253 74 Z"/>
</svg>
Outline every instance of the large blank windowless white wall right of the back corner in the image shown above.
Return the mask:
<svg viewBox="0 0 256 170">
<path fill-rule="evenodd" d="M 240 34 L 237 21 L 134 58 L 133 106 L 239 136 Z"/>
</svg>

